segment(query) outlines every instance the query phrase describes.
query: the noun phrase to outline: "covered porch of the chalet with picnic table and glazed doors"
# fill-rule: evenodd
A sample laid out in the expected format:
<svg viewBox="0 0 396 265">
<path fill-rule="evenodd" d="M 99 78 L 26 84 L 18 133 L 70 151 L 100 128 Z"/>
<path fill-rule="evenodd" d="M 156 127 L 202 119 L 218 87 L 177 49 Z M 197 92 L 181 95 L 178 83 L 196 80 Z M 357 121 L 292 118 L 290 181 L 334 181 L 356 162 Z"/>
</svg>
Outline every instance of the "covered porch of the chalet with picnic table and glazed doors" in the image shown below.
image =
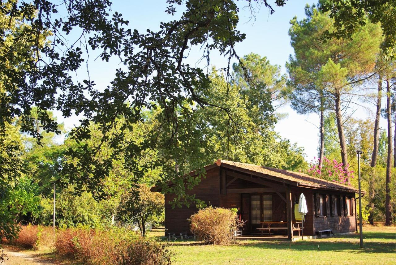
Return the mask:
<svg viewBox="0 0 396 265">
<path fill-rule="evenodd" d="M 224 163 L 220 176 L 220 205 L 237 208 L 238 216 L 244 222 L 238 239 L 293 240 L 301 236 L 301 216 L 295 216 L 294 210 L 301 189 L 296 189 L 288 181 L 256 176 L 251 170 L 244 172 L 240 167 Z M 304 222 L 307 235 L 306 227 Z"/>
</svg>

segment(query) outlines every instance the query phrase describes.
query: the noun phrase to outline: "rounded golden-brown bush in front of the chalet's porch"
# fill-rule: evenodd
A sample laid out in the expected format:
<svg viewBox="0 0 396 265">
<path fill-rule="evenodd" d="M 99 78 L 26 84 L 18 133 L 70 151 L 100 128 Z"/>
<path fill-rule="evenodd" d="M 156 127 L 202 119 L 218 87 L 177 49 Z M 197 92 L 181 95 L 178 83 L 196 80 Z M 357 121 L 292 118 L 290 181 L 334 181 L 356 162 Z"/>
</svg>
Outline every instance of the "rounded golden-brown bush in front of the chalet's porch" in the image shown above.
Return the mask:
<svg viewBox="0 0 396 265">
<path fill-rule="evenodd" d="M 234 233 L 243 225 L 234 211 L 212 206 L 200 209 L 189 220 L 191 232 L 207 244 L 234 243 Z"/>
</svg>

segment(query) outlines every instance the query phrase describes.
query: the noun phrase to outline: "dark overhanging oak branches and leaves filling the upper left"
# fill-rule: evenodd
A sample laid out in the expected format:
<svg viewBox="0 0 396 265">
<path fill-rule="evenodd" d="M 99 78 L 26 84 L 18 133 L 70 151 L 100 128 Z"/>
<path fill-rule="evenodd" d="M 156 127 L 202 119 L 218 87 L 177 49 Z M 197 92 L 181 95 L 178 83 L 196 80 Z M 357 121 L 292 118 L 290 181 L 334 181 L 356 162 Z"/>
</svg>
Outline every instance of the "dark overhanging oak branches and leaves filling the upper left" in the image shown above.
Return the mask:
<svg viewBox="0 0 396 265">
<path fill-rule="evenodd" d="M 260 3 L 274 12 L 267 0 Z M 251 1 L 246 4 L 255 13 Z M 277 6 L 284 4 L 283 0 L 276 1 Z M 130 28 L 120 13 L 109 11 L 109 1 L 66 1 L 62 5 L 51 0 L 2 2 L 4 30 L 0 39 L 14 43 L 2 45 L 0 61 L 8 68 L 1 73 L 7 82 L 2 104 L 6 111 L 1 112 L 0 122 L 18 116 L 23 132 L 41 139 L 37 127 L 60 133 L 49 110 L 56 109 L 63 117 L 82 115 L 81 126 L 69 134 L 78 144 L 68 148 L 70 159 L 61 167 L 65 186 L 75 184 L 76 189 L 81 189 L 85 184 L 84 188 L 92 190 L 95 197 L 106 197 L 103 185 L 98 184 L 109 175 L 114 161 L 124 159 L 123 167 L 139 180 L 144 175 L 140 156 L 146 150 L 169 147 L 163 160 L 169 164 L 184 159 L 181 151 L 171 152 L 175 146 L 199 156 L 206 141 L 195 144 L 202 140 L 198 128 L 206 123 L 192 115 L 198 108 L 186 110 L 185 106 L 217 107 L 232 117 L 227 108 L 209 103 L 209 76 L 199 66 L 185 63 L 185 59 L 189 49 L 199 47 L 203 47 L 207 66 L 211 51 L 218 51 L 229 62 L 239 58 L 234 46 L 244 40 L 245 34 L 236 29 L 240 13 L 236 1 L 171 0 L 167 5 L 165 11 L 171 18 L 168 22 L 160 22 L 156 32 L 139 32 Z M 177 12 L 180 8 L 182 13 Z M 21 34 L 9 29 L 7 21 L 23 25 L 23 36 L 28 38 L 18 38 Z M 20 46 L 25 49 L 20 51 Z M 93 50 L 105 62 L 118 58 L 124 64 L 116 69 L 114 79 L 104 90 L 89 78 L 88 57 Z M 229 66 L 226 72 L 230 77 Z M 38 114 L 36 120 L 30 116 L 33 106 Z M 145 109 L 158 111 L 158 124 L 147 132 L 145 141 L 137 144 L 128 138 L 127 131 L 145 121 Z M 179 109 L 185 112 L 174 115 Z M 89 146 L 85 140 L 93 136 L 92 123 L 103 137 Z M 238 129 L 239 125 L 230 120 L 230 126 Z M 116 151 L 97 159 L 104 143 Z M 196 160 L 199 163 L 189 163 L 188 167 L 197 169 L 207 164 L 203 159 Z M 177 177 L 174 167 L 164 164 L 164 175 Z M 187 171 L 183 163 L 179 164 L 181 171 Z"/>
</svg>

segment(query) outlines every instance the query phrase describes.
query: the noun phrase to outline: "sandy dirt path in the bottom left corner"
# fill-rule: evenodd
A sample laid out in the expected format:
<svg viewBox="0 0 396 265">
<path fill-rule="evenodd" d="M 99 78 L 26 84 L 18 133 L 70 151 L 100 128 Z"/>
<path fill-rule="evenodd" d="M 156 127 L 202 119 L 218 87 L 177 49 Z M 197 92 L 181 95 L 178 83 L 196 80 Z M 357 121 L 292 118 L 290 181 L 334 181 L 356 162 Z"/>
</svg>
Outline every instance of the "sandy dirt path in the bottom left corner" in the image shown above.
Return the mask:
<svg viewBox="0 0 396 265">
<path fill-rule="evenodd" d="M 2 265 L 56 265 L 56 263 L 38 256 L 38 254 L 29 253 L 29 251 L 20 251 L 8 246 L 4 246 L 3 249 L 8 256 L 8 260 Z"/>
</svg>

